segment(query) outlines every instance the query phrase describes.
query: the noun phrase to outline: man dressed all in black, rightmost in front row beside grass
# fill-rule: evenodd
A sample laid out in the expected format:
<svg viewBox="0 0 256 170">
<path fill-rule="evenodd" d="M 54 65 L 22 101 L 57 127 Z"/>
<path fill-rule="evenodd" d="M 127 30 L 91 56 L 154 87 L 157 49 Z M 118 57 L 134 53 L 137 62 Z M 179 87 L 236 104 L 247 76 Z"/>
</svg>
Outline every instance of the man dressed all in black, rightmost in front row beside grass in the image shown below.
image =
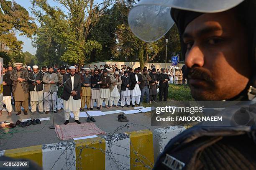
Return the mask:
<svg viewBox="0 0 256 170">
<path fill-rule="evenodd" d="M 164 95 L 164 101 L 167 100 L 167 96 L 168 96 L 168 88 L 169 88 L 169 81 L 170 78 L 168 76 L 168 74 L 165 74 L 165 69 L 162 68 L 161 69 L 161 73 L 158 75 L 158 79 L 159 79 L 159 100 L 161 101 L 163 99 L 163 95 Z"/>
</svg>

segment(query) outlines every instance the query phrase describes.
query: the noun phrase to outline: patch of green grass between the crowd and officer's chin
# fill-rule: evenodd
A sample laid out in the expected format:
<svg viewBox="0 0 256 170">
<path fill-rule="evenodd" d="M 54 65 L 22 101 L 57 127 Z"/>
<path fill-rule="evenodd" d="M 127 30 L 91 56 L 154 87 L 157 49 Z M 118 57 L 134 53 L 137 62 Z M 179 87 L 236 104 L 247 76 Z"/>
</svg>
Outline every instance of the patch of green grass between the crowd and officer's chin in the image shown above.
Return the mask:
<svg viewBox="0 0 256 170">
<path fill-rule="evenodd" d="M 168 98 L 176 101 L 194 100 L 190 94 L 189 86 L 176 84 L 169 84 Z"/>
</svg>

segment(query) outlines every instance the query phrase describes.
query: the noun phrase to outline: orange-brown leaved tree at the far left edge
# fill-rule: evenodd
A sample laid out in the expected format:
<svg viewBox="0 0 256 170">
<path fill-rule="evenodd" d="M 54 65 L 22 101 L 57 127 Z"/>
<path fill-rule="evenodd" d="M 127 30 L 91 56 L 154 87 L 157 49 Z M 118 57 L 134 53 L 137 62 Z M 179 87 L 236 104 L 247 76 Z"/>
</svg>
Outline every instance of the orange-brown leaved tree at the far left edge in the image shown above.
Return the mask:
<svg viewBox="0 0 256 170">
<path fill-rule="evenodd" d="M 14 31 L 32 38 L 36 24 L 28 11 L 13 1 L 0 0 L 0 52 L 8 61 L 18 61 L 23 42 L 18 41 Z"/>
</svg>

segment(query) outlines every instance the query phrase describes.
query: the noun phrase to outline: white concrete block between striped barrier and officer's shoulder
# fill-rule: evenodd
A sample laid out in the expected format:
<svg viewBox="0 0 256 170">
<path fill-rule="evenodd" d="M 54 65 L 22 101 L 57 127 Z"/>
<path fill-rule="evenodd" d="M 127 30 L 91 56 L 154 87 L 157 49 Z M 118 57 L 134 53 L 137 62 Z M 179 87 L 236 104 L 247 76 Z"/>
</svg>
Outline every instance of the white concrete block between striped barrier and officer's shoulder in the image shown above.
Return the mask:
<svg viewBox="0 0 256 170">
<path fill-rule="evenodd" d="M 186 129 L 184 126 L 170 126 L 159 129 L 154 129 L 154 160 L 164 150 L 166 144 L 175 136 Z"/>
</svg>

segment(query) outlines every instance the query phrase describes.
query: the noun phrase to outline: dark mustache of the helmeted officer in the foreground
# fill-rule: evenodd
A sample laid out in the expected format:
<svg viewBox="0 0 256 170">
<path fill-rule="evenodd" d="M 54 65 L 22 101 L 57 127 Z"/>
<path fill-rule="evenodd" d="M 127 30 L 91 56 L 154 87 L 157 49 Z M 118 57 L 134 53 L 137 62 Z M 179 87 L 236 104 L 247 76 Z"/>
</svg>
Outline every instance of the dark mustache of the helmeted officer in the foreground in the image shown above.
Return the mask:
<svg viewBox="0 0 256 170">
<path fill-rule="evenodd" d="M 199 67 L 187 68 L 187 70 L 184 71 L 184 76 L 188 79 L 201 79 L 208 82 L 214 82 L 210 71 Z"/>
</svg>

